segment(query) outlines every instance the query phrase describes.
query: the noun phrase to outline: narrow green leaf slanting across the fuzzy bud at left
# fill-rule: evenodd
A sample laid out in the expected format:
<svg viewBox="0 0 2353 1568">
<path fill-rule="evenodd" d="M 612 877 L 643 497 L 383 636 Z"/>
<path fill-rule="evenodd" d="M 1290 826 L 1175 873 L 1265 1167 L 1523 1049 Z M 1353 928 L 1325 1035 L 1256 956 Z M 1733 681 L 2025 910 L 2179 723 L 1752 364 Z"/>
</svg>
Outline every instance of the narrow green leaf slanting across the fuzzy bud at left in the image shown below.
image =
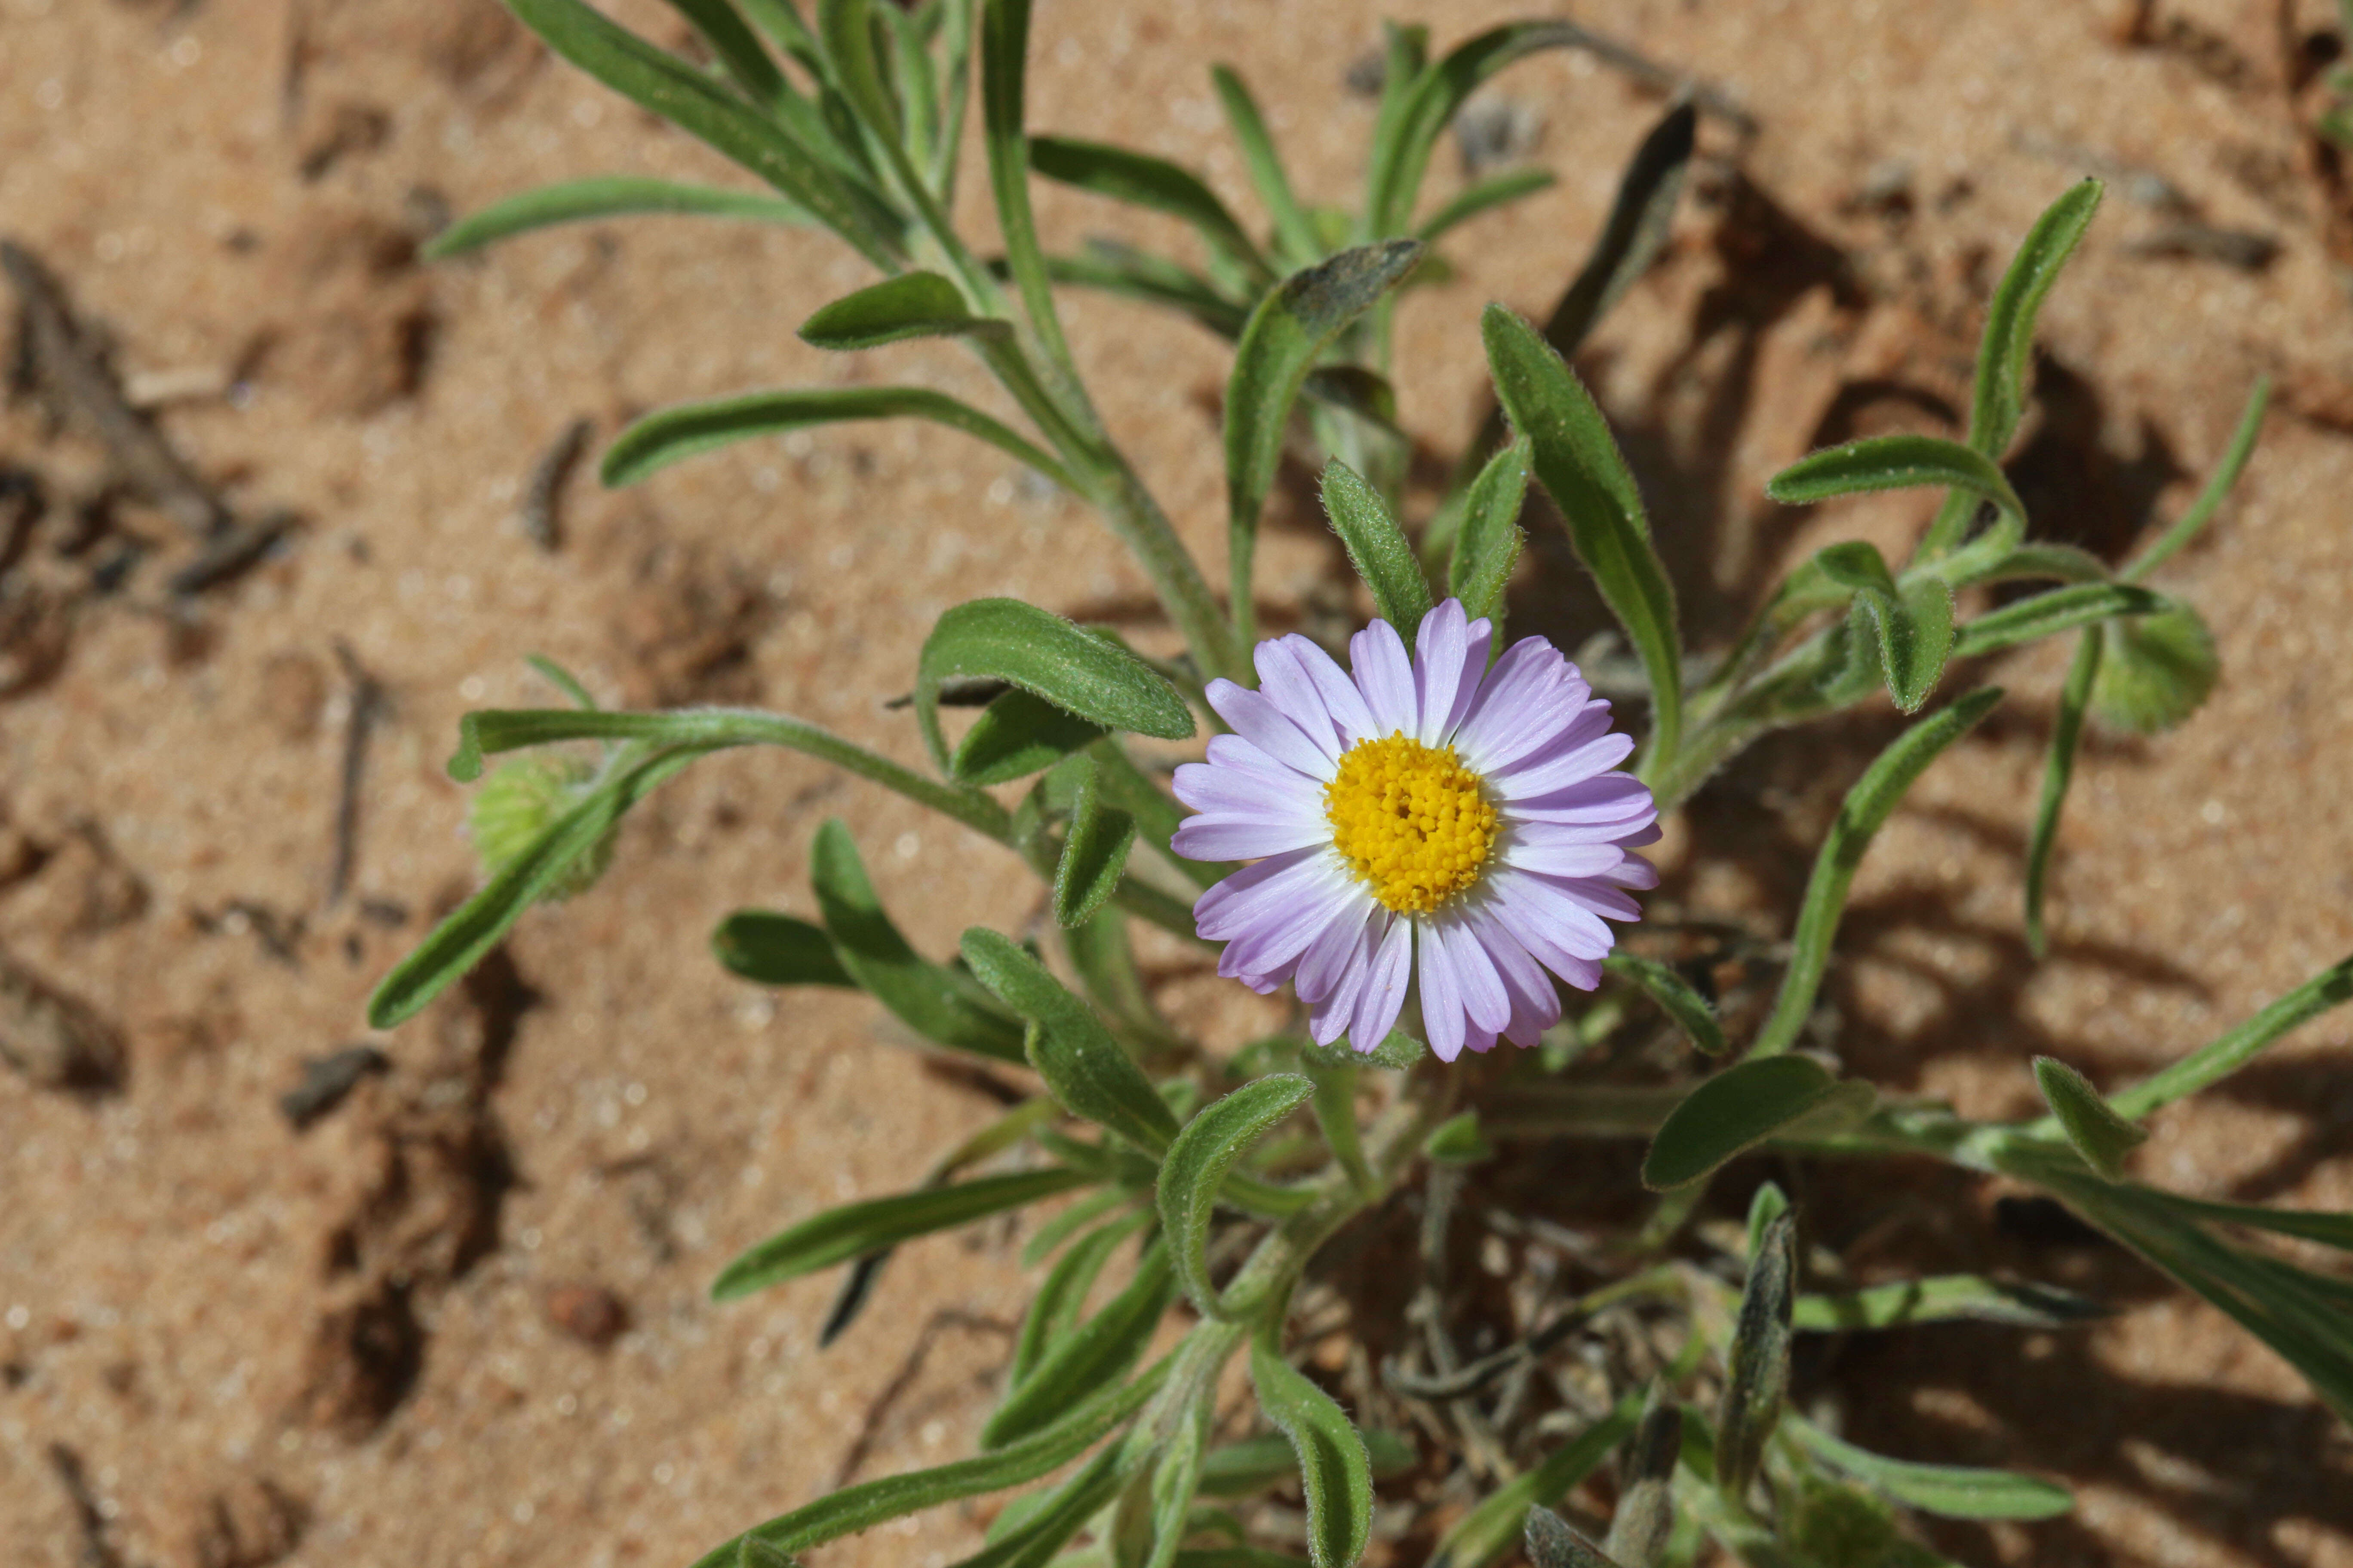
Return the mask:
<svg viewBox="0 0 2353 1568">
<path fill-rule="evenodd" d="M 482 954 L 513 931 L 522 912 L 555 889 L 572 863 L 591 853 L 631 806 L 708 750 L 713 748 L 678 745 L 609 766 L 576 806 L 548 823 L 473 898 L 393 964 L 393 971 L 376 983 L 367 999 L 367 1027 L 391 1030 L 414 1018 L 461 973 L 480 964 Z M 480 773 L 480 759 L 475 773 Z"/>
</svg>

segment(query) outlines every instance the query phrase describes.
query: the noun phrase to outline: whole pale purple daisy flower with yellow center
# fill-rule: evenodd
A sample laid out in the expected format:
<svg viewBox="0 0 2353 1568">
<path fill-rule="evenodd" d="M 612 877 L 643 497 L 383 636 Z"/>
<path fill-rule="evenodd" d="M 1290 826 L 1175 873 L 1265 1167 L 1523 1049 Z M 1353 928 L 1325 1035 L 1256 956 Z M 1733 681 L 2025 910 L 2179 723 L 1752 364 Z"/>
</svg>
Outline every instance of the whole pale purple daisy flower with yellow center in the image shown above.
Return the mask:
<svg viewBox="0 0 2353 1568">
<path fill-rule="evenodd" d="M 1257 646 L 1259 691 L 1209 682 L 1233 733 L 1176 769 L 1200 816 L 1174 849 L 1257 863 L 1193 922 L 1226 943 L 1221 976 L 1261 994 L 1292 980 L 1318 1044 L 1379 1046 L 1419 976 L 1442 1060 L 1532 1046 L 1560 1020 L 1546 971 L 1593 990 L 1617 940 L 1602 919 L 1640 919 L 1628 891 L 1659 884 L 1628 853 L 1659 837 L 1659 809 L 1612 771 L 1633 738 L 1544 637 L 1489 670 L 1492 630 L 1447 599 L 1412 658 L 1374 621 L 1353 672 L 1292 635 Z"/>
</svg>

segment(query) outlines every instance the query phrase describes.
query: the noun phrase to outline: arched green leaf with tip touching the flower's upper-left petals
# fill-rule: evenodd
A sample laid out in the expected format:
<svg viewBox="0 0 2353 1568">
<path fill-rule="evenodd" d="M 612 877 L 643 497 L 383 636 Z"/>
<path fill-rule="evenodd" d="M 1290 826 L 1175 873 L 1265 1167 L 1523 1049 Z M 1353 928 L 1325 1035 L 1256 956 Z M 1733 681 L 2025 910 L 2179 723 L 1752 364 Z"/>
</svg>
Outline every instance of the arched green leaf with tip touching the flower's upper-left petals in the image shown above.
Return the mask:
<svg viewBox="0 0 2353 1568">
<path fill-rule="evenodd" d="M 972 599 L 939 618 L 915 665 L 915 719 L 948 769 L 939 689 L 953 677 L 1009 682 L 1104 729 L 1160 741 L 1193 733 L 1184 696 L 1118 642 L 1094 637 L 1021 599 Z"/>
</svg>

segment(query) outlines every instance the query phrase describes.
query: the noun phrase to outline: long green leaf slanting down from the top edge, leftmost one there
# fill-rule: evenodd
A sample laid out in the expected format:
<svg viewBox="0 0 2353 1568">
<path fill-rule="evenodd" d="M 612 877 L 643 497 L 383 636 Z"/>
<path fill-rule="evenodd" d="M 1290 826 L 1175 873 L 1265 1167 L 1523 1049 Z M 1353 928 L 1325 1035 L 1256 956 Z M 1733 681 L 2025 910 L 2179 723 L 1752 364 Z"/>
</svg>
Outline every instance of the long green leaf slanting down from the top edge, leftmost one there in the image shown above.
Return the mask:
<svg viewBox="0 0 2353 1568">
<path fill-rule="evenodd" d="M 767 115 L 581 0 L 508 0 L 508 9 L 560 56 L 744 165 L 875 266 L 896 266 L 896 216 Z"/>
</svg>

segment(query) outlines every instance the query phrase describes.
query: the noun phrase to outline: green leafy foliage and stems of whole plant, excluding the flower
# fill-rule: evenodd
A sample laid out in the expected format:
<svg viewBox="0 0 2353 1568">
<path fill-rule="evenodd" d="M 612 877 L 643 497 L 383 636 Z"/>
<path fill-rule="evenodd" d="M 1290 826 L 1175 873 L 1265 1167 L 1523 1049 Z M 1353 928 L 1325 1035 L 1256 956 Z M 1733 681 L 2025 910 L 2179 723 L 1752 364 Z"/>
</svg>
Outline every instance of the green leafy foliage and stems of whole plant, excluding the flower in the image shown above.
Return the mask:
<svg viewBox="0 0 2353 1568">
<path fill-rule="evenodd" d="M 927 421 L 979 437 L 1000 454 L 993 461 L 1042 475 L 1092 512 L 1158 604 L 1111 630 L 986 597 L 991 585 L 974 583 L 984 597 L 925 628 L 896 689 L 852 693 L 875 703 L 908 693 L 899 703 L 913 710 L 908 729 L 885 748 L 751 708 L 607 712 L 546 661 L 534 668 L 574 708 L 464 717 L 449 776 L 480 780 L 473 832 L 485 882 L 384 976 L 369 999 L 376 1027 L 414 1018 L 518 931 L 525 940 L 576 933 L 567 922 L 633 872 L 633 851 L 614 851 L 626 813 L 720 750 L 793 750 L 972 830 L 998 856 L 991 875 L 1019 882 L 1026 867 L 1038 877 L 988 905 L 1009 922 L 1005 931 L 976 924 L 958 952 L 927 954 L 899 919 L 936 929 L 951 914 L 936 907 L 944 900 L 955 919 L 972 919 L 951 891 L 958 879 L 936 877 L 929 863 L 868 872 L 847 823 L 774 806 L 809 849 L 812 907 L 727 912 L 711 936 L 713 976 L 854 994 L 889 1046 L 965 1058 L 953 1072 L 1005 1103 L 906 1173 L 899 1192 L 795 1208 L 767 1239 L 758 1229 L 736 1237 L 744 1251 L 718 1272 L 713 1295 L 725 1302 L 847 1265 L 819 1331 L 828 1342 L 906 1307 L 908 1269 L 882 1265 L 894 1248 L 936 1246 L 925 1237 L 969 1225 L 1019 1234 L 1021 1265 L 1042 1274 L 979 1455 L 779 1500 L 798 1507 L 718 1544 L 661 1542 L 664 1554 L 685 1561 L 704 1549 L 696 1568 L 776 1568 L 918 1509 L 1033 1486 L 986 1505 L 995 1526 L 962 1568 L 1297 1568 L 1299 1535 L 1259 1537 L 1247 1500 L 1268 1490 L 1299 1521 L 1313 1568 L 1365 1556 L 1377 1502 L 1414 1509 L 1407 1528 L 1428 1521 L 1421 1509 L 1433 1500 L 1468 1502 L 1438 1535 L 1433 1568 L 1487 1568 L 1522 1540 L 1539 1568 L 1687 1563 L 1708 1542 L 1751 1563 L 1861 1568 L 1932 1561 L 1904 1535 L 1899 1507 L 2019 1521 L 2064 1512 L 2071 1497 L 2054 1481 L 1937 1453 L 1880 1455 L 1819 1425 L 1805 1359 L 1793 1380 L 1793 1342 L 1953 1333 L 1948 1324 L 1960 1321 L 1979 1335 L 2071 1333 L 2108 1307 L 2047 1281 L 1981 1274 L 1807 1291 L 1800 1260 L 1835 1239 L 1800 1248 L 1805 1215 L 1777 1182 L 1753 1185 L 1746 1227 L 1725 1199 L 1760 1150 L 1777 1161 L 1946 1161 L 2026 1182 L 2214 1302 L 2353 1418 L 2353 1284 L 2341 1267 L 2273 1251 L 2285 1237 L 2353 1253 L 2353 1218 L 2191 1199 L 2129 1180 L 2127 1159 L 2151 1112 L 2224 1081 L 2353 999 L 2353 959 L 2106 1095 L 2057 1060 L 2028 1067 L 2019 1058 L 2017 1086 L 2033 1081 L 2049 1105 L 2049 1117 L 2021 1121 L 1972 1121 L 1882 1095 L 1831 1065 L 1835 1037 L 1819 1027 L 1824 987 L 1840 957 L 1852 957 L 1840 926 L 1873 837 L 2000 701 L 1993 686 L 1960 689 L 1955 665 L 1967 663 L 1965 679 L 1977 682 L 2009 649 L 2073 637 L 2042 790 L 2033 820 L 2017 820 L 2035 952 L 2049 940 L 2045 907 L 2085 726 L 2181 724 L 2219 679 L 2217 639 L 2195 607 L 2144 578 L 2224 515 L 2257 444 L 2264 383 L 2198 501 L 2125 567 L 2038 538 L 2047 520 L 2028 515 L 2002 470 L 2028 416 L 2035 317 L 2066 287 L 2066 261 L 2099 207 L 2094 181 L 2057 193 L 1993 289 L 1965 440 L 1889 433 L 1793 451 L 1767 484 L 1784 505 L 1828 508 L 1864 491 L 1939 489 L 1944 505 L 1915 545 L 1882 552 L 1835 538 L 1779 581 L 1744 583 L 1746 623 L 1701 625 L 1678 604 L 1654 545 L 1654 529 L 1673 541 L 1685 520 L 1652 520 L 1642 449 L 1628 458 L 1612 433 L 1614 409 L 1572 360 L 1661 254 L 1701 143 L 1699 120 L 1753 129 L 1722 89 L 1694 85 L 1647 129 L 1605 228 L 1579 247 L 1581 263 L 1548 313 L 1522 317 L 1515 306 L 1525 301 L 1487 308 L 1480 343 L 1464 350 L 1485 348 L 1492 404 L 1471 442 L 1433 465 L 1414 444 L 1421 433 L 1398 425 L 1400 407 L 1424 416 L 1400 397 L 1417 383 L 1391 362 L 1398 301 L 1449 275 L 1424 266 L 1442 263 L 1435 244 L 1466 244 L 1487 214 L 1553 183 L 1551 169 L 1511 169 L 1426 202 L 1438 139 L 1475 89 L 1537 52 L 1642 66 L 1609 40 L 1551 19 L 1433 49 L 1426 31 L 1391 26 L 1362 188 L 1348 202 L 1304 188 L 1285 167 L 1271 129 L 1285 118 L 1261 106 L 1278 78 L 1254 85 L 1245 68 L 1219 66 L 1209 87 L 1247 176 L 1238 195 L 1249 205 L 1240 205 L 1219 195 L 1228 181 L 1167 158 L 1031 125 L 1028 0 L 821 0 L 809 14 L 793 0 L 673 0 L 706 56 L 694 61 L 584 0 L 511 5 L 555 54 L 765 190 L 579 179 L 492 202 L 454 223 L 433 254 L 482 252 L 553 223 L 640 216 L 828 230 L 871 275 L 816 308 L 800 336 L 828 353 L 885 353 L 899 376 L 654 409 L 605 451 L 607 484 L 654 480 L 739 440 L 788 430 L 828 440 L 847 421 Z M 953 219 L 974 96 L 995 207 L 981 235 Z M 1174 216 L 1181 244 L 1160 254 L 1099 235 L 1049 254 L 1031 209 L 1033 179 L 1085 193 L 1089 223 L 1118 226 L 1122 209 Z M 1056 289 L 1066 287 L 1108 292 L 1120 310 L 1160 310 L 1224 343 L 1224 428 L 1200 451 L 1209 489 L 1224 475 L 1224 599 L 1096 414 L 1059 320 Z M 993 390 L 976 400 L 934 390 L 932 374 L 951 357 L 974 364 Z M 1287 451 L 1322 473 L 1334 571 L 1355 576 L 1407 646 L 1417 630 L 1424 642 L 1452 632 L 1447 599 L 1497 630 L 1494 654 L 1506 646 L 1506 614 L 1558 621 L 1560 607 L 1534 599 L 1553 581 L 1518 571 L 1522 520 L 1551 527 L 1541 522 L 1548 501 L 1567 531 L 1565 555 L 1631 656 L 1602 651 L 1586 675 L 1595 686 L 1614 682 L 1612 698 L 1647 729 L 1640 785 L 1661 813 L 1772 729 L 1880 703 L 1922 715 L 1892 731 L 1847 785 L 1814 844 L 1802 898 L 1744 917 L 1739 952 L 1769 952 L 1779 966 L 1762 1023 L 1732 992 L 1715 994 L 1741 964 L 1725 966 L 1727 950 L 1708 947 L 1725 922 L 1694 907 L 1680 931 L 1614 933 L 1624 945 L 1598 971 L 1600 992 L 1584 1011 L 1546 1034 L 1541 1051 L 1504 1051 L 1485 1072 L 1435 1060 L 1412 1013 L 1362 1056 L 1318 1046 L 1285 997 L 1266 1004 L 1242 1051 L 1212 1051 L 1184 1025 L 1200 1016 L 1202 992 L 1179 987 L 1226 985 L 1207 973 L 1214 957 L 1191 903 L 1247 872 L 1172 853 L 1188 818 L 1169 797 L 1167 769 L 1200 755 L 1209 693 L 1233 696 L 1219 682 L 1257 682 L 1264 583 L 1254 545 Z M 1435 498 L 1407 489 L 1407 475 L 1424 473 L 1447 475 Z M 1544 491 L 1534 510 L 1529 480 Z M 1998 602 L 1986 597 L 1995 585 Z M 1433 604 L 1445 614 L 1426 625 Z M 1337 651 L 1353 628 L 1311 630 Z M 1287 656 L 1308 670 L 1299 646 Z M 969 708 L 969 719 L 958 717 Z M 1261 738 L 1280 743 L 1278 731 Z M 536 750 L 553 745 L 579 750 Z M 1226 755 L 1235 738 L 1209 745 Z M 508 752 L 534 755 L 482 780 L 489 759 Z M 572 903 L 539 907 L 565 896 Z M 692 952 L 692 936 L 678 940 Z M 795 1023 L 798 1051 L 866 1044 L 838 1032 L 816 1039 L 838 1025 L 814 1009 L 807 1018 L 824 1023 Z M 1991 1018 L 1986 1034 L 2002 1039 L 2002 1020 Z M 1638 1058 L 1649 1077 L 1605 1077 Z M 781 1088 L 746 1081 L 744 1093 Z M 1640 1182 L 1664 1197 L 1598 1208 L 1633 1215 L 1624 1225 L 1574 1215 L 1591 1227 L 1577 1241 L 1584 1295 L 1522 1291 L 1527 1279 L 1461 1293 L 1449 1260 L 1471 1255 L 1473 1232 L 1478 1255 L 1506 1272 L 1551 1244 L 1537 1222 L 1553 1215 L 1489 1201 L 1539 1190 L 1520 1180 L 1520 1161 L 1560 1161 L 1588 1173 L 1581 1182 L 1619 1180 L 1614 1199 L 1640 1197 L 1621 1161 L 1572 1161 L 1551 1147 L 1607 1138 L 1647 1143 Z M 1504 1185 L 1489 1192 L 1489 1180 Z M 1379 1300 L 1351 1295 L 1351 1269 L 1367 1267 L 1398 1274 L 1384 1279 Z M 1744 1286 L 1734 1293 L 1727 1279 Z M 1511 1302 L 1520 1298 L 1541 1302 L 1541 1314 L 1518 1321 Z M 1377 1326 L 1381 1312 L 1405 1316 Z M 1640 1382 L 1619 1359 L 1584 1368 L 1579 1378 L 1600 1375 L 1607 1387 L 1584 1387 L 1572 1408 L 1546 1373 L 1581 1333 L 1675 1349 Z M 1466 1335 L 1492 1347 L 1471 1356 Z M 1374 1366 L 1374 1342 L 1395 1359 Z M 1242 1387 L 1240 1368 L 1249 1408 L 1233 1413 L 1219 1399 Z M 1880 1396 L 1868 1385 L 1847 1392 Z M 711 1396 L 727 1399 L 725 1389 Z M 1245 1427 L 1228 1429 L 1228 1418 Z M 1475 1472 L 1464 1472 L 1466 1453 L 1478 1455 Z M 1612 1460 L 1617 1505 L 1595 1542 L 1553 1509 Z"/>
</svg>

